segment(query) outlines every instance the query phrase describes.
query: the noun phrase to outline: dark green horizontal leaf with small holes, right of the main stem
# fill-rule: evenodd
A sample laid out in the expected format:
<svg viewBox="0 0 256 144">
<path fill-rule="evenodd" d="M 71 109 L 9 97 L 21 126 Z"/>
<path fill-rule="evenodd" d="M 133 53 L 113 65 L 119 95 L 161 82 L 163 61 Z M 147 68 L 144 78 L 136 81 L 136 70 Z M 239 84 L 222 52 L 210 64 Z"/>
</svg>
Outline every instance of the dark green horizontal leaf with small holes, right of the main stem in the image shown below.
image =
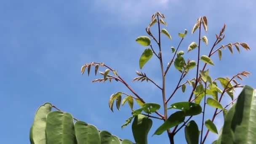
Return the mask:
<svg viewBox="0 0 256 144">
<path fill-rule="evenodd" d="M 180 109 L 184 112 L 185 116 L 198 115 L 202 112 L 200 104 L 195 104 L 189 101 L 182 101 L 171 104 L 168 109 Z"/>
</svg>

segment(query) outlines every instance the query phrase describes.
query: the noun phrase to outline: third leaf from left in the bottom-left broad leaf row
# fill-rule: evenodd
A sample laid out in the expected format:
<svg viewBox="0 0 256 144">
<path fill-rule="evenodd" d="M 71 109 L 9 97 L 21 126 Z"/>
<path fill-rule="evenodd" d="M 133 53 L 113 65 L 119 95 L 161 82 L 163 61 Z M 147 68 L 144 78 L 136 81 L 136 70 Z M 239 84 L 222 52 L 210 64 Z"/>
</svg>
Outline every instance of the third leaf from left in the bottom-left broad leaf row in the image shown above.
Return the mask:
<svg viewBox="0 0 256 144">
<path fill-rule="evenodd" d="M 98 129 L 83 121 L 75 122 L 77 144 L 101 144 Z"/>
</svg>

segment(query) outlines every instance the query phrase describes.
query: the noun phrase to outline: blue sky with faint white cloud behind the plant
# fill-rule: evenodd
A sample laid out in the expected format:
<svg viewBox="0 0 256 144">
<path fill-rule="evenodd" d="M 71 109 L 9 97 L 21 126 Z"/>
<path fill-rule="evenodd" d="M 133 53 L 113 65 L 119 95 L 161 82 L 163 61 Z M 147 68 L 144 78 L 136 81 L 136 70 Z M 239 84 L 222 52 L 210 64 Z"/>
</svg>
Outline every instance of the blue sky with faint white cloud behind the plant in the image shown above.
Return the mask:
<svg viewBox="0 0 256 144">
<path fill-rule="evenodd" d="M 38 106 L 48 101 L 87 123 L 96 125 L 123 139 L 133 140 L 131 125 L 121 129 L 130 117 L 128 105 L 121 111 L 110 111 L 107 101 L 112 93 L 131 93 L 120 83 L 91 83 L 92 75 L 80 74 L 80 67 L 91 61 L 104 62 L 118 70 L 131 87 L 147 102 L 161 102 L 161 93 L 151 83 L 131 83 L 139 70 L 139 57 L 145 47 L 135 42 L 136 37 L 146 35 L 144 30 L 155 11 L 165 14 L 169 33 L 173 40 L 163 38 L 164 64 L 171 59 L 171 46 L 177 47 L 178 32 L 190 30 L 199 16 L 208 17 L 209 40 L 202 53 L 208 54 L 225 23 L 226 38 L 222 43 L 246 42 L 251 51 L 244 49 L 230 54 L 223 51 L 223 59 L 212 59 L 215 67 L 208 66 L 212 77 L 232 77 L 243 70 L 252 73 L 243 84 L 256 87 L 253 0 L 1 0 L 0 1 L 0 143 L 28 144 L 29 128 Z M 163 27 L 164 28 L 164 27 Z M 187 46 L 197 41 L 197 32 L 189 33 L 181 45 L 185 58 L 194 58 L 195 51 L 187 53 Z M 155 48 L 156 49 L 156 48 Z M 142 69 L 157 83 L 161 82 L 159 62 L 153 57 Z M 214 69 L 213 69 L 214 68 Z M 104 71 L 105 69 L 99 69 Z M 193 73 L 193 71 L 192 71 Z M 194 77 L 189 74 L 186 80 Z M 179 72 L 171 67 L 167 76 L 166 93 L 170 95 L 176 85 Z M 99 77 L 99 75 L 97 76 Z M 237 90 L 239 93 L 240 90 Z M 237 95 L 236 93 L 236 95 Z M 180 91 L 171 100 L 186 101 L 188 93 Z M 228 96 L 224 104 L 230 101 Z M 169 104 L 171 104 L 170 102 Z M 138 107 L 137 105 L 135 107 Z M 211 108 L 207 108 L 211 119 Z M 163 112 L 163 110 L 160 110 Z M 169 112 L 169 114 L 171 111 Z M 200 118 L 196 117 L 196 118 Z M 216 125 L 221 127 L 222 117 Z M 152 136 L 163 123 L 155 120 L 149 132 L 149 144 L 168 143 L 166 133 Z M 216 139 L 210 132 L 207 143 Z M 184 132 L 175 137 L 176 143 L 185 143 Z"/>
</svg>

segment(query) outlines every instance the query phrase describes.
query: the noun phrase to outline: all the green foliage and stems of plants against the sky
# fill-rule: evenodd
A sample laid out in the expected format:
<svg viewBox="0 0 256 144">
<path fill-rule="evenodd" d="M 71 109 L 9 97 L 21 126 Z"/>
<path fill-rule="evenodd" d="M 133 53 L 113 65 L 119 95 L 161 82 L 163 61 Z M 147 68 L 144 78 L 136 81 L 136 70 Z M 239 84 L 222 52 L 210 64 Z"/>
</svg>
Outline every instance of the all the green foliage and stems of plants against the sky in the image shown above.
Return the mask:
<svg viewBox="0 0 256 144">
<path fill-rule="evenodd" d="M 235 88 L 241 88 L 243 85 L 237 82 L 237 79 L 243 80 L 242 76 L 248 77 L 250 72 L 243 71 L 238 72 L 233 77 L 216 77 L 212 78 L 209 73 L 209 69 L 206 69 L 208 64 L 211 65 L 211 68 L 214 67 L 214 62 L 211 59 L 213 54 L 218 53 L 219 59 L 221 60 L 222 51 L 225 48 L 228 48 L 231 53 L 233 53 L 233 46 L 237 49 L 240 53 L 239 46 L 242 46 L 245 50 L 250 50 L 250 47 L 247 43 L 227 43 L 222 44 L 219 48 L 216 48 L 222 40 L 224 40 L 224 31 L 226 25 L 221 28 L 219 35 L 216 34 L 216 40 L 210 47 L 209 53 L 201 53 L 201 49 L 204 45 L 210 45 L 210 41 L 208 38 L 203 34 L 203 30 L 205 32 L 208 31 L 208 20 L 206 16 L 200 16 L 194 27 L 192 28 L 192 34 L 199 30 L 198 32 L 198 42 L 192 42 L 187 47 L 187 52 L 191 53 L 190 51 L 197 50 L 197 58 L 195 60 L 188 59 L 187 61 L 184 59 L 186 53 L 184 51 L 180 51 L 180 45 L 184 41 L 185 37 L 187 36 L 187 29 L 185 29 L 184 33 L 179 33 L 178 36 L 181 37 L 181 40 L 177 47 L 171 46 L 171 53 L 173 56 L 170 58 L 167 66 L 164 66 L 164 61 L 162 57 L 162 45 L 161 45 L 161 34 L 164 34 L 168 40 L 172 40 L 171 33 L 168 32 L 167 29 L 161 27 L 166 27 L 167 22 L 164 21 L 165 15 L 156 12 L 151 17 L 151 22 L 149 23 L 148 27 L 146 27 L 146 32 L 148 36 L 139 36 L 136 38 L 136 42 L 141 44 L 142 46 L 147 46 L 144 52 L 141 54 L 139 59 L 139 67 L 142 69 L 145 64 L 152 58 L 155 57 L 158 61 L 160 61 L 160 70 L 161 70 L 161 77 L 162 77 L 162 85 L 157 84 L 152 78 L 146 75 L 145 72 L 136 71 L 137 77 L 133 79 L 134 81 L 146 81 L 149 83 L 153 83 L 159 90 L 162 92 L 162 100 L 163 103 L 147 103 L 144 100 L 144 97 L 139 96 L 136 91 L 131 88 L 131 86 L 117 73 L 117 70 L 109 67 L 104 62 L 90 62 L 86 63 L 81 67 L 82 75 L 87 68 L 88 75 L 90 74 L 91 67 L 95 67 L 95 75 L 98 72 L 99 67 L 106 68 L 104 72 L 99 72 L 102 75 L 102 78 L 98 78 L 93 80 L 92 82 L 112 82 L 115 80 L 119 83 L 123 83 L 131 93 L 125 92 L 116 92 L 112 94 L 109 98 L 108 104 L 111 111 L 113 111 L 114 105 L 116 105 L 117 109 L 120 110 L 120 106 L 122 106 L 127 102 L 129 107 L 131 108 L 131 117 L 126 120 L 126 123 L 122 125 L 122 128 L 132 123 L 132 131 L 134 140 L 136 143 L 139 144 L 147 144 L 147 135 L 151 129 L 153 120 L 152 119 L 159 119 L 163 120 L 163 124 L 159 125 L 159 127 L 154 130 L 154 135 L 160 135 L 164 131 L 168 133 L 168 138 L 171 144 L 174 144 L 174 136 L 178 133 L 182 128 L 185 131 L 185 138 L 188 144 L 198 144 L 200 141 L 201 144 L 205 143 L 205 139 L 208 136 L 209 131 L 213 133 L 220 133 L 219 139 L 214 143 L 222 143 L 225 139 L 229 139 L 229 141 L 235 142 L 238 141 L 253 141 L 253 136 L 255 135 L 255 123 L 253 123 L 252 119 L 255 119 L 255 93 L 254 89 L 248 88 L 245 86 L 243 92 L 240 94 L 237 104 L 234 104 L 232 108 L 227 112 L 227 107 L 233 104 L 237 98 L 234 98 L 233 92 Z M 157 37 L 152 34 L 151 28 L 157 25 Z M 157 50 L 154 49 L 152 42 L 155 42 L 157 45 Z M 203 43 L 201 43 L 203 42 Z M 174 65 L 173 70 L 178 70 L 180 72 L 180 78 L 176 87 L 173 88 L 173 91 L 166 91 L 167 88 L 165 87 L 165 76 L 168 74 L 171 65 Z M 189 70 L 196 68 L 195 77 L 186 78 Z M 202 69 L 200 69 L 202 67 Z M 221 87 L 219 87 L 221 85 Z M 177 96 L 176 92 L 181 88 L 181 91 L 184 93 L 186 91 L 190 91 L 190 95 L 186 96 L 186 100 L 176 102 L 170 104 L 171 99 L 173 96 Z M 171 88 L 168 88 L 170 90 Z M 170 92 L 169 96 L 167 96 L 167 92 Z M 253 93 L 253 94 L 252 94 Z M 230 103 L 225 104 L 222 100 L 224 94 L 227 94 L 230 97 Z M 247 96 L 249 95 L 249 96 Z M 124 99 L 122 100 L 122 98 Z M 134 101 L 138 104 L 134 108 Z M 203 101 L 203 102 L 202 102 Z M 47 103 L 49 104 L 49 103 Z M 50 105 L 49 105 L 50 106 Z M 73 124 L 73 117 L 69 113 L 65 112 L 50 112 L 51 106 L 49 107 L 45 105 L 41 106 L 35 115 L 34 123 L 31 127 L 30 131 L 30 139 L 31 143 L 35 141 L 69 141 L 70 144 L 78 143 L 79 141 L 85 141 L 83 143 L 93 143 L 91 141 L 95 141 L 96 144 L 110 144 L 108 141 L 113 141 L 111 144 L 120 143 L 120 139 L 116 136 L 113 136 L 111 133 L 107 131 L 101 131 L 98 133 L 97 129 L 93 125 L 86 124 L 85 122 L 77 121 L 75 125 Z M 170 106 L 170 107 L 168 107 Z M 215 112 L 211 119 L 205 120 L 205 107 L 213 107 L 215 108 Z M 158 112 L 160 108 L 163 108 L 163 114 Z M 238 107 L 242 107 L 238 109 Z M 56 107 L 55 107 L 56 108 Z M 43 112 L 40 112 L 41 109 L 44 109 Z M 177 111 L 173 112 L 172 114 L 168 114 L 169 109 L 176 109 Z M 220 109 L 218 111 L 218 109 Z M 222 132 L 218 132 L 216 126 L 214 124 L 214 119 L 216 115 L 220 112 L 223 112 L 225 116 L 225 123 Z M 250 113 L 251 112 L 251 113 Z M 240 114 L 246 114 L 242 115 Z M 248 114 L 248 115 L 247 115 Z M 193 116 L 201 115 L 201 121 L 191 120 Z M 37 117 L 43 117 L 43 119 L 38 120 Z M 77 120 L 77 119 L 76 119 Z M 38 125 L 39 123 L 39 125 Z M 242 123 L 242 126 L 240 124 Z M 199 126 L 200 124 L 200 130 Z M 55 125 L 55 126 L 54 126 Z M 204 125 L 207 128 L 206 133 L 203 131 Z M 253 125 L 253 126 L 252 126 Z M 239 130 L 235 129 L 238 128 Z M 241 130 L 244 128 L 243 130 Z M 254 128 L 254 129 L 252 129 Z M 40 129 L 40 132 L 38 131 Z M 241 130 L 241 131 L 240 131 Z M 56 131 L 56 132 L 55 132 Z M 61 136 L 56 136 L 58 131 L 66 131 L 65 135 L 62 134 Z M 97 132 L 96 132 L 97 131 Z M 254 133 L 251 133 L 254 131 Z M 46 133 L 46 135 L 45 135 Z M 47 133 L 51 133 L 51 136 L 48 136 Z M 246 133 L 248 139 L 241 138 Z M 64 140 L 66 139 L 66 140 Z M 241 140 L 243 139 L 243 140 Z M 81 142 L 82 143 L 82 142 Z M 130 144 L 131 141 L 122 140 L 122 144 Z M 36 143 L 35 143 L 36 144 Z"/>
</svg>

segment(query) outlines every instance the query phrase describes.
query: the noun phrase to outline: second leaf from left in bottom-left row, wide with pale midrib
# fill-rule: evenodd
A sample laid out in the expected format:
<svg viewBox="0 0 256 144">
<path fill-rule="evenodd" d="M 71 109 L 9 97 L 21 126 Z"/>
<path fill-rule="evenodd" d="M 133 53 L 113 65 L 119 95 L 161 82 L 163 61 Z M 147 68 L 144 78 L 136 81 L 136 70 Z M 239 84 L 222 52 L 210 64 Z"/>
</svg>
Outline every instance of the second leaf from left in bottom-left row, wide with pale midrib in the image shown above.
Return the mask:
<svg viewBox="0 0 256 144">
<path fill-rule="evenodd" d="M 74 121 L 71 114 L 49 112 L 46 120 L 47 144 L 76 144 Z"/>
</svg>

